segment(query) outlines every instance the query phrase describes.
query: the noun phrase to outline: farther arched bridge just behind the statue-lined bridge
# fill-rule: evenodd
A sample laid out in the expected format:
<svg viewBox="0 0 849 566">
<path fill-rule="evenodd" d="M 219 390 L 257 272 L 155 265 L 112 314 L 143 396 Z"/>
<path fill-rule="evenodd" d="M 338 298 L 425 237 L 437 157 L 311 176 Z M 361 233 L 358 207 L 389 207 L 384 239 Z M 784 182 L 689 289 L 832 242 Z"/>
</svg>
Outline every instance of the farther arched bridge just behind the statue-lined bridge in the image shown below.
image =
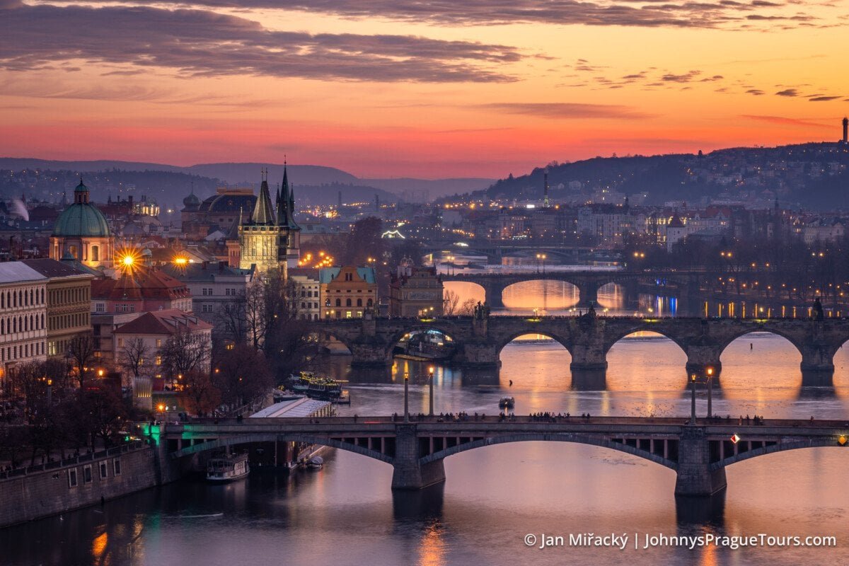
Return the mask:
<svg viewBox="0 0 849 566">
<path fill-rule="evenodd" d="M 486 302 L 494 308 L 504 306 L 503 292 L 510 285 L 525 281 L 563 281 L 578 289 L 578 306 L 588 308 L 599 301 L 599 289 L 607 283 L 622 285 L 626 291 L 626 303 L 636 302 L 640 286 L 650 285 L 655 289 L 675 289 L 679 300 L 686 302 L 698 298 L 700 283 L 706 277 L 704 271 L 574 271 L 574 272 L 512 272 L 512 273 L 456 273 L 443 274 L 443 282 L 463 281 L 475 283 L 484 289 Z M 668 289 L 667 289 L 668 288 Z M 699 305 L 694 305 L 694 312 Z"/>
</svg>

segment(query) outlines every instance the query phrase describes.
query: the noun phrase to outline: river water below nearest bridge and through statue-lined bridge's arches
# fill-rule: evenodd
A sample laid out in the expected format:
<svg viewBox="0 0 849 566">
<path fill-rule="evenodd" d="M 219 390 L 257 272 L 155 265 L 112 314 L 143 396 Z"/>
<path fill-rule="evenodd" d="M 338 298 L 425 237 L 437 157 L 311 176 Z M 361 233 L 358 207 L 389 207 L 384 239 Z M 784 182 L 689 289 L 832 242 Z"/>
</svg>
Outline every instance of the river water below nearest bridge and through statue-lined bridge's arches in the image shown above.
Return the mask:
<svg viewBox="0 0 849 566">
<path fill-rule="evenodd" d="M 685 357 L 666 339 L 637 337 L 610 353 L 604 390 L 576 390 L 569 355 L 549 343 L 509 345 L 500 373 L 439 367 L 436 412 L 684 415 Z M 834 387 L 801 388 L 800 356 L 784 339 L 753 334 L 722 356 L 720 414 L 847 417 L 849 353 L 838 354 Z M 351 373 L 343 414 L 402 411 L 402 374 L 413 411 L 426 411 L 426 367 Z M 512 379 L 514 384 L 509 385 Z M 699 411 L 705 412 L 700 393 Z M 420 493 L 390 490 L 391 467 L 329 451 L 319 472 L 252 473 L 231 485 L 184 481 L 159 490 L 0 530 L 0 563 L 192 564 L 846 564 L 849 448 L 787 451 L 729 467 L 728 490 L 676 501 L 675 474 L 593 446 L 516 443 L 447 458 L 447 481 Z M 2 504 L 2 503 L 0 503 Z M 628 535 L 625 550 L 528 547 L 528 534 Z M 835 535 L 836 548 L 678 546 L 643 549 L 649 535 Z M 633 537 L 638 535 L 639 548 Z M 538 546 L 538 542 L 537 542 Z"/>
</svg>

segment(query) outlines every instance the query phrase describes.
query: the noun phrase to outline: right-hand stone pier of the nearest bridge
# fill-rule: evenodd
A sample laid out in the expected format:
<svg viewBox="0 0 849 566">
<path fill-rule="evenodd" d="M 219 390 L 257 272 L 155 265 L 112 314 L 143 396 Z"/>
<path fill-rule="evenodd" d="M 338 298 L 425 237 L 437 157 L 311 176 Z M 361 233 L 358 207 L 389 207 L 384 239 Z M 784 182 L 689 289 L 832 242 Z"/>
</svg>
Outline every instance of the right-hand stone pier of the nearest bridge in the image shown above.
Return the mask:
<svg viewBox="0 0 849 566">
<path fill-rule="evenodd" d="M 682 427 L 677 472 L 676 496 L 712 496 L 728 485 L 725 468 L 711 469 L 711 452 L 702 427 Z"/>
</svg>

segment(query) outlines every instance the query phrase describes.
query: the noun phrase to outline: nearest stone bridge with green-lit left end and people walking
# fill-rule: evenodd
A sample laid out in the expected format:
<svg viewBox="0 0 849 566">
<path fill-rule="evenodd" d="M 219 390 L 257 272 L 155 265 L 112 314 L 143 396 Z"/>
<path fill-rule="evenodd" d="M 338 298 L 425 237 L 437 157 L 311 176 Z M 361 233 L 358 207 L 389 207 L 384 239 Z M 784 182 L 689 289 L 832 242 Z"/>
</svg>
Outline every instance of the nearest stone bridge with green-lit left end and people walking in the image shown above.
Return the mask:
<svg viewBox="0 0 849 566">
<path fill-rule="evenodd" d="M 160 465 L 179 466 L 205 451 L 253 442 L 307 442 L 391 464 L 392 488 L 416 490 L 445 479 L 444 458 L 506 442 L 576 442 L 626 452 L 675 470 L 676 495 L 709 496 L 726 486 L 725 468 L 773 452 L 844 446 L 844 421 L 767 420 L 762 426 L 683 418 L 469 416 L 194 419 L 145 425 Z M 736 436 L 735 436 L 736 435 Z M 733 439 L 734 437 L 734 439 Z"/>
</svg>

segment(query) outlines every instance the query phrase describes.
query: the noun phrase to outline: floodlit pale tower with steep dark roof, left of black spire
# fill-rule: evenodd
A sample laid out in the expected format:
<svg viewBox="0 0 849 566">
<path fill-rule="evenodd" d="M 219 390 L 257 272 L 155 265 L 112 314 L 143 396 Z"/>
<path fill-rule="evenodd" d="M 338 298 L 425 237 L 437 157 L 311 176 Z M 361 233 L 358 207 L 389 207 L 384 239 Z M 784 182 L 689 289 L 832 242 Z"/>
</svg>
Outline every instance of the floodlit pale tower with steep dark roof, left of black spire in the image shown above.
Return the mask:
<svg viewBox="0 0 849 566">
<path fill-rule="evenodd" d="M 255 265 L 260 273 L 280 269 L 285 277 L 286 264 L 279 261 L 280 226 L 268 189 L 268 171 L 262 171 L 256 205 L 245 221 L 239 221 L 239 268 Z"/>
</svg>

